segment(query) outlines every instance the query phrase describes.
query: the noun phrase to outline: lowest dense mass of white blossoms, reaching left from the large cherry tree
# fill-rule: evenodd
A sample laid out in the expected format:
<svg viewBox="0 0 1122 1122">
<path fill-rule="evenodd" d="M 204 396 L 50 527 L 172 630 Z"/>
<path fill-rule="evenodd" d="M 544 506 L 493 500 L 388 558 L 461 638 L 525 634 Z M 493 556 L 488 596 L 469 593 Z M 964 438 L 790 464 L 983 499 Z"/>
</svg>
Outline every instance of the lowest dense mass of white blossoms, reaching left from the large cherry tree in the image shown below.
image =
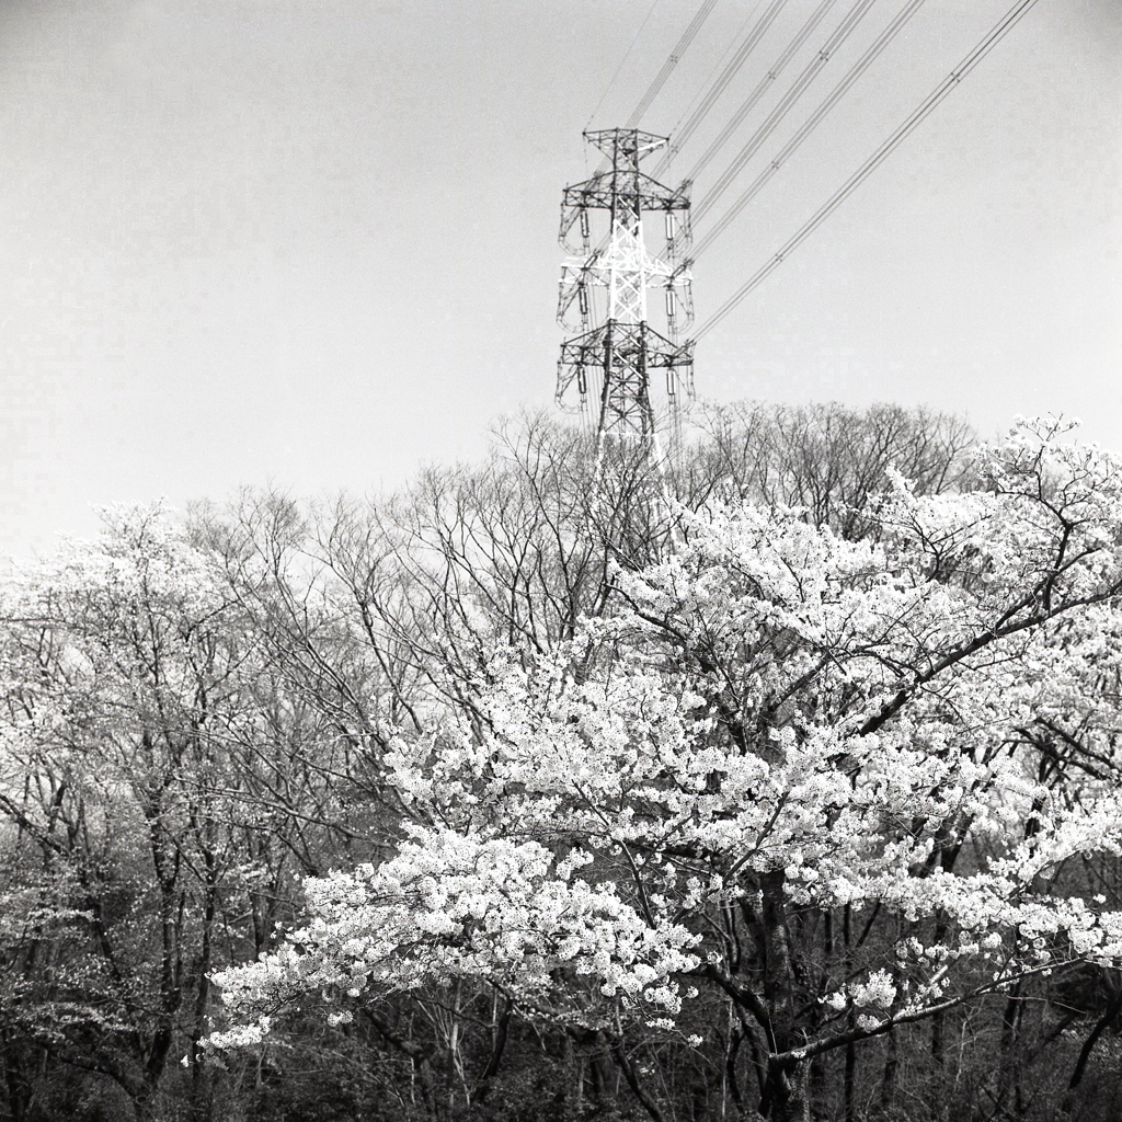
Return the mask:
<svg viewBox="0 0 1122 1122">
<path fill-rule="evenodd" d="M 533 1002 L 555 988 L 558 971 L 604 997 L 677 1012 L 674 975 L 697 964 L 696 940 L 645 922 L 614 884 L 581 880 L 585 863 L 576 853 L 555 861 L 532 840 L 416 829 L 384 865 L 309 881 L 311 923 L 215 980 L 259 1028 L 261 1013 L 305 993 L 355 999 L 452 977 Z"/>
</svg>

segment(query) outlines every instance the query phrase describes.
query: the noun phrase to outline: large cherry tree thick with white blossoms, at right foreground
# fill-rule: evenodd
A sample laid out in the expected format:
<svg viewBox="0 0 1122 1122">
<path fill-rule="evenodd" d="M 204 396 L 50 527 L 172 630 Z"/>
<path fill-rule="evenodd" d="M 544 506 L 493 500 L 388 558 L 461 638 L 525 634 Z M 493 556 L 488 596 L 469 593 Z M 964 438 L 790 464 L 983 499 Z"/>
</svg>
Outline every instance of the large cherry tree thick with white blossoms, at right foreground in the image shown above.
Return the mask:
<svg viewBox="0 0 1122 1122">
<path fill-rule="evenodd" d="M 1072 868 L 1122 852 L 1122 462 L 1063 438 L 1019 425 L 967 493 L 896 478 L 861 541 L 712 504 L 617 573 L 623 610 L 496 650 L 387 730 L 393 852 L 219 976 L 212 1043 L 469 980 L 600 1034 L 661 1118 L 628 1041 L 719 995 L 790 1120 L 820 1057 L 1116 964 L 1122 912 Z"/>
</svg>

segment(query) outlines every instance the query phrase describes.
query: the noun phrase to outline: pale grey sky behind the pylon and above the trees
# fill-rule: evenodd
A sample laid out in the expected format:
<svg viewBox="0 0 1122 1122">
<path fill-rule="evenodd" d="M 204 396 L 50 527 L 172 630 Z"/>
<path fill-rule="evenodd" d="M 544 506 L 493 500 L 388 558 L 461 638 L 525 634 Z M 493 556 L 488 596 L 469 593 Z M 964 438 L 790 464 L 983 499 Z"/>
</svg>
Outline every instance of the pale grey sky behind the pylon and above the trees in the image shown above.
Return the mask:
<svg viewBox="0 0 1122 1122">
<path fill-rule="evenodd" d="M 1011 2 L 927 0 L 699 257 L 699 321 Z M 902 4 L 877 0 L 744 185 Z M 0 551 L 90 533 L 98 503 L 392 487 L 548 405 L 581 130 L 626 120 L 699 7 L 6 0 Z M 791 0 L 665 178 L 810 7 Z M 673 131 L 760 10 L 719 0 L 644 128 Z M 706 335 L 698 393 L 926 402 L 987 434 L 1063 412 L 1122 451 L 1120 57 L 1118 0 L 1039 0 Z"/>
</svg>

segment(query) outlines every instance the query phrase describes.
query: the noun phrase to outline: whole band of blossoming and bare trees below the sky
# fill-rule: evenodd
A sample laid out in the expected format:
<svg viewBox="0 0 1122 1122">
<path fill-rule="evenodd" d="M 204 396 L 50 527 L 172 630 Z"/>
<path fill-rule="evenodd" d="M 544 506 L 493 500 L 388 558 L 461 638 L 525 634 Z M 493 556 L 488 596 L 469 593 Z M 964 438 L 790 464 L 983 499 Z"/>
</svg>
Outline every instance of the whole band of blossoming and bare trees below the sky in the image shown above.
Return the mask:
<svg viewBox="0 0 1122 1122">
<path fill-rule="evenodd" d="M 0 1116 L 1122 1118 L 1122 460 L 696 421 L 12 567 Z"/>
</svg>

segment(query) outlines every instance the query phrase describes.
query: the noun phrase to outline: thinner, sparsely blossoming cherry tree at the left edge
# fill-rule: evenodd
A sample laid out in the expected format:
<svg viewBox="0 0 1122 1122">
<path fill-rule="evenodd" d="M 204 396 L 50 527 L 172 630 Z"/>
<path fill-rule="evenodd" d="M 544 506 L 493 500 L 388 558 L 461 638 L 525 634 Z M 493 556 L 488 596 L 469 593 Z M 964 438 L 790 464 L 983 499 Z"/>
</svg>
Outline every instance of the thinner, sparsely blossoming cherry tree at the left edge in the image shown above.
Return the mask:
<svg viewBox="0 0 1122 1122">
<path fill-rule="evenodd" d="M 29 1103 L 45 1055 L 163 1116 L 184 1055 L 180 1094 L 210 1093 L 192 1063 L 210 973 L 267 947 L 296 877 L 325 861 L 319 846 L 305 859 L 297 812 L 316 797 L 302 741 L 323 757 L 324 738 L 163 505 L 107 511 L 98 540 L 22 565 L 2 615 L 9 1103 Z M 297 807 L 285 795 L 301 785 Z"/>
</svg>

